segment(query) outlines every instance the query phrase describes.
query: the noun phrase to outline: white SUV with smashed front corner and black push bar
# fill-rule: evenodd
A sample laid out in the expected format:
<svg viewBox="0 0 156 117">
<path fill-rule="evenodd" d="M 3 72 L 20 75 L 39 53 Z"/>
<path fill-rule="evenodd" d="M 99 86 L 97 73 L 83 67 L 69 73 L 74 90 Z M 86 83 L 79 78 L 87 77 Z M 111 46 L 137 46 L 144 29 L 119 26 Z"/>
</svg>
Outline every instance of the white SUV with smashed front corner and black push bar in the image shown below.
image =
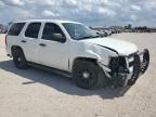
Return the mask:
<svg viewBox="0 0 156 117">
<path fill-rule="evenodd" d="M 139 52 L 133 43 L 102 38 L 88 26 L 69 21 L 15 22 L 5 43 L 17 68 L 38 65 L 67 72 L 86 89 L 108 82 L 131 86 L 150 63 L 147 49 Z"/>
</svg>

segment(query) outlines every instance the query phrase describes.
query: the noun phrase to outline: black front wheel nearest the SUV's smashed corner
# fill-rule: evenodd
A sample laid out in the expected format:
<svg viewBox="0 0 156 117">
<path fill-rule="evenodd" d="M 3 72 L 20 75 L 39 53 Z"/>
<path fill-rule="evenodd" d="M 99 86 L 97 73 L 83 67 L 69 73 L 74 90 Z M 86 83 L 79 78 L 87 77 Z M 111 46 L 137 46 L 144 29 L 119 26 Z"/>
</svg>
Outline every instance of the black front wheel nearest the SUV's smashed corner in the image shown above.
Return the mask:
<svg viewBox="0 0 156 117">
<path fill-rule="evenodd" d="M 94 89 L 104 86 L 102 69 L 95 63 L 89 61 L 75 63 L 73 78 L 75 83 L 83 89 Z"/>
</svg>

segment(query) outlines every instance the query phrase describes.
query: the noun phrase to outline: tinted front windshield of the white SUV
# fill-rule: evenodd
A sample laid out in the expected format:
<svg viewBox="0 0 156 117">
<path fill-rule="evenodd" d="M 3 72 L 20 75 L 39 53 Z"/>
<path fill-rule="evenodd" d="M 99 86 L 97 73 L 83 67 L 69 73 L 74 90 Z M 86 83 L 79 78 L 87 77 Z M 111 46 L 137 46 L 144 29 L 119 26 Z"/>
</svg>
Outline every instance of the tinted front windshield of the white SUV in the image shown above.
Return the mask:
<svg viewBox="0 0 156 117">
<path fill-rule="evenodd" d="M 99 37 L 95 31 L 82 24 L 63 23 L 63 26 L 75 40 L 82 40 Z"/>
</svg>

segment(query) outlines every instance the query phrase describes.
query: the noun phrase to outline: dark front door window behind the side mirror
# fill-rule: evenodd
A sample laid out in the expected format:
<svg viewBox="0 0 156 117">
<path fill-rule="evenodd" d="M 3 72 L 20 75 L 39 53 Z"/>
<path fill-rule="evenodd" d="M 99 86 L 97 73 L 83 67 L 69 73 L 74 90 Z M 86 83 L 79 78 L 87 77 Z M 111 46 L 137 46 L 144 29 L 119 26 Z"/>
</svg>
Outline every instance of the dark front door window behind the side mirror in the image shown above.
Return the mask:
<svg viewBox="0 0 156 117">
<path fill-rule="evenodd" d="M 42 32 L 42 39 L 53 40 L 52 39 L 53 34 L 62 34 L 62 36 L 65 37 L 62 29 L 56 24 L 46 23 Z"/>
</svg>

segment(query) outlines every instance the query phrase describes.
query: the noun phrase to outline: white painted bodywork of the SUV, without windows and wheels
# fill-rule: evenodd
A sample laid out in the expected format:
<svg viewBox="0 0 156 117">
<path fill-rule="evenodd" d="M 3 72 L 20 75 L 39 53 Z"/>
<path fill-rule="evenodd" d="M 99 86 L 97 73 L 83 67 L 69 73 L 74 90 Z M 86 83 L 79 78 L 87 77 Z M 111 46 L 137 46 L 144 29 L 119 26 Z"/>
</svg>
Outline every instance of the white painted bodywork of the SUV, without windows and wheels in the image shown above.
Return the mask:
<svg viewBox="0 0 156 117">
<path fill-rule="evenodd" d="M 77 57 L 95 58 L 99 63 L 107 66 L 109 57 L 118 55 L 129 55 L 138 51 L 138 48 L 129 42 L 115 40 L 112 38 L 95 38 L 86 40 L 74 40 L 69 37 L 62 23 L 75 23 L 66 21 L 24 21 L 27 24 L 34 22 L 41 22 L 41 29 L 38 39 L 30 39 L 24 36 L 24 30 L 20 36 L 8 36 L 6 51 L 11 55 L 11 47 L 20 46 L 24 50 L 24 54 L 27 61 L 35 62 L 49 67 L 54 67 L 67 72 L 72 72 L 72 66 Z M 51 40 L 42 40 L 41 34 L 44 23 L 57 24 L 66 36 L 66 42 L 61 43 Z M 21 40 L 27 42 L 21 43 Z M 39 47 L 39 43 L 46 43 L 47 47 Z M 99 46 L 98 46 L 99 44 Z M 103 48 L 103 47 L 109 48 Z M 115 51 L 113 51 L 115 50 Z"/>
</svg>

